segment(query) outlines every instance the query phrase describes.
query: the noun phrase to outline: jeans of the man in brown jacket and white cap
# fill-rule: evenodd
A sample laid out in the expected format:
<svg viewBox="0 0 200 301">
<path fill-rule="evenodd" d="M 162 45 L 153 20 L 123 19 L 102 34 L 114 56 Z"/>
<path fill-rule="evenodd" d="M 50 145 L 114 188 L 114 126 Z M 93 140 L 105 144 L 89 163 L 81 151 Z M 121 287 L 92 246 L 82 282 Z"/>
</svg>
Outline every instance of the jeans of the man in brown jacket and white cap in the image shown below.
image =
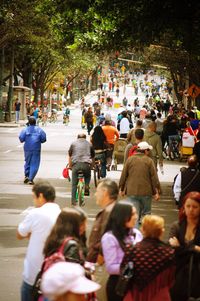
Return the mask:
<svg viewBox="0 0 200 301">
<path fill-rule="evenodd" d="M 136 223 L 136 228 L 139 228 L 140 219 L 144 215 L 151 214 L 152 196 L 131 195 L 128 198 L 137 210 L 138 219 L 137 219 L 137 223 Z"/>
</svg>

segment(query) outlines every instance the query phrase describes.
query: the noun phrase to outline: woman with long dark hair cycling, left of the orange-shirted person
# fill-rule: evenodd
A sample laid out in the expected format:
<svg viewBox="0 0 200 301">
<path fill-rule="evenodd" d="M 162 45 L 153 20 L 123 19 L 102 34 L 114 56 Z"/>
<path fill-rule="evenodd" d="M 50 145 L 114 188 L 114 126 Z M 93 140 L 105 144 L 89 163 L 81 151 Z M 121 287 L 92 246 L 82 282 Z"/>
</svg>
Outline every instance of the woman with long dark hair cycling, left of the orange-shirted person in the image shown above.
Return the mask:
<svg viewBox="0 0 200 301">
<path fill-rule="evenodd" d="M 101 161 L 101 177 L 106 177 L 106 136 L 100 125 L 94 128 L 91 136 L 91 143 L 95 151 L 95 160 Z"/>
</svg>

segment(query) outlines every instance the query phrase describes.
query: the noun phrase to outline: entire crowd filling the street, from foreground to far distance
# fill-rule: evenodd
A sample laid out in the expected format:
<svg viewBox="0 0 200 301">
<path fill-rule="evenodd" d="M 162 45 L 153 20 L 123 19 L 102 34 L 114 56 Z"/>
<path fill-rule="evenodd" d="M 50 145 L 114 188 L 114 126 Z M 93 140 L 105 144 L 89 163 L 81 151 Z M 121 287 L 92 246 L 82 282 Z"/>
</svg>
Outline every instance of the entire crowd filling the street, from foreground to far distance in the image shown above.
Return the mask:
<svg viewBox="0 0 200 301">
<path fill-rule="evenodd" d="M 138 89 L 146 94 L 145 105 L 141 107 L 137 98 L 129 106 L 123 99 L 116 121 L 108 113 L 104 116 L 101 101 L 86 108 L 82 100 L 82 127 L 86 126 L 89 141 L 85 132 L 80 133 L 68 150 L 71 208 L 56 204 L 55 188 L 49 182 L 33 181 L 45 132 L 36 126 L 34 117 L 21 131 L 24 183 L 33 185 L 35 205 L 17 230 L 18 239 L 29 239 L 22 301 L 188 301 L 200 297 L 200 118 L 195 108 L 186 112 L 168 98 L 162 103 L 164 87 L 147 80 L 132 82 L 136 95 Z M 118 97 L 117 89 L 111 80 L 109 90 Z M 102 86 L 100 96 L 103 90 Z M 165 220 L 152 214 L 152 200 L 160 199 L 158 167 L 163 170 L 164 145 L 167 142 L 170 147 L 174 136 L 180 141 L 184 131 L 195 137 L 196 144 L 188 167 L 174 179 L 179 212 L 164 241 Z M 107 173 L 120 139 L 126 147 L 116 183 Z M 90 195 L 95 159 L 101 161 L 102 179 L 95 192 L 101 210 L 88 229 L 87 213 L 76 203 L 76 190 L 81 170 L 85 195 Z M 35 299 L 38 273 L 40 296 Z"/>
</svg>

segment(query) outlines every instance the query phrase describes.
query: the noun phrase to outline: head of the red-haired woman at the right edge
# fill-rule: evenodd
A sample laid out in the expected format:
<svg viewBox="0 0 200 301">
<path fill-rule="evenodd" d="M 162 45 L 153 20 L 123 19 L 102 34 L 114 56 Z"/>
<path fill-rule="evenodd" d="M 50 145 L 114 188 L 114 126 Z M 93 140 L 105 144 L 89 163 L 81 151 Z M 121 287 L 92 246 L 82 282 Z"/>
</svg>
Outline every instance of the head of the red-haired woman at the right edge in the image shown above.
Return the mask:
<svg viewBox="0 0 200 301">
<path fill-rule="evenodd" d="M 200 224 L 200 192 L 188 192 L 183 199 L 179 220 L 182 221 L 188 218 L 198 220 Z"/>
</svg>

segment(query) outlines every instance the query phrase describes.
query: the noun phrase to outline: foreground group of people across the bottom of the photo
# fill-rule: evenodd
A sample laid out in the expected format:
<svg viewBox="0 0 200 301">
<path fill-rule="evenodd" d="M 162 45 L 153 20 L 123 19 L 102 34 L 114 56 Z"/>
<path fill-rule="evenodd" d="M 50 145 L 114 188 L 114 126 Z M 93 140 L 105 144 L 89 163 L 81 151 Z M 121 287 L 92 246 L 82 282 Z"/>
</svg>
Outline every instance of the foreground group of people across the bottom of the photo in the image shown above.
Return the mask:
<svg viewBox="0 0 200 301">
<path fill-rule="evenodd" d="M 41 301 L 199 298 L 200 192 L 185 195 L 179 218 L 164 242 L 164 218 L 146 212 L 138 229 L 137 206 L 128 196 L 118 200 L 118 184 L 108 178 L 97 186 L 96 203 L 101 210 L 88 239 L 83 209 L 59 208 L 49 182 L 36 182 L 32 191 L 35 208 L 17 231 L 19 239 L 29 239 L 22 301 L 36 300 L 33 293 L 40 269 L 41 292 L 37 300 Z M 124 288 L 127 265 L 133 274 Z M 99 294 L 102 299 L 98 299 Z"/>
</svg>

